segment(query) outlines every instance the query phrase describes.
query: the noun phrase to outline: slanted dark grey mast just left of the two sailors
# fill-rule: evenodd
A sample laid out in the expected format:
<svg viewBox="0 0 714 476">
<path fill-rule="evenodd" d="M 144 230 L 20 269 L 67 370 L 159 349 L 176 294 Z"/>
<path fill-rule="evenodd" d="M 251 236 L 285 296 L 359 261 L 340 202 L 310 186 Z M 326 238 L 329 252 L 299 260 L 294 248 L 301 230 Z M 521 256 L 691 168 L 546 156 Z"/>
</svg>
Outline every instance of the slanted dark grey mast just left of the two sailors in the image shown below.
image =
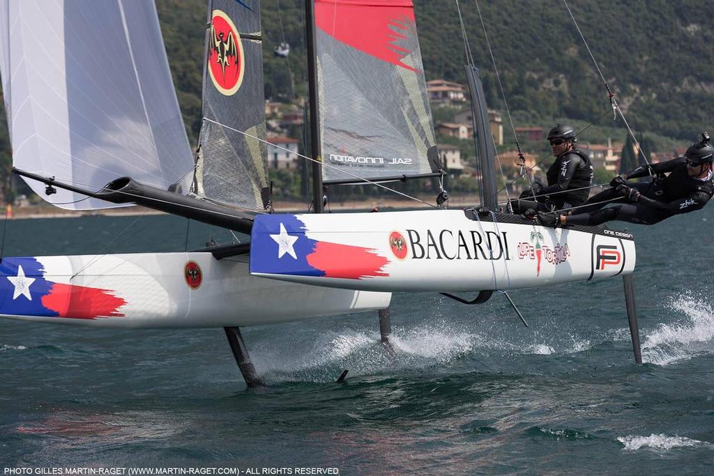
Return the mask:
<svg viewBox="0 0 714 476">
<path fill-rule="evenodd" d="M 496 151 L 491 138 L 491 128 L 488 126 L 486 96 L 483 93 L 483 84 L 478 68 L 471 64 L 467 64 L 465 67 L 468 91 L 471 93 L 473 141 L 476 143 L 478 161 L 481 164 L 481 175 L 483 176 L 483 206 L 488 210 L 496 210 L 498 208 L 498 188 L 496 188 L 496 170 L 493 161 Z"/>
</svg>

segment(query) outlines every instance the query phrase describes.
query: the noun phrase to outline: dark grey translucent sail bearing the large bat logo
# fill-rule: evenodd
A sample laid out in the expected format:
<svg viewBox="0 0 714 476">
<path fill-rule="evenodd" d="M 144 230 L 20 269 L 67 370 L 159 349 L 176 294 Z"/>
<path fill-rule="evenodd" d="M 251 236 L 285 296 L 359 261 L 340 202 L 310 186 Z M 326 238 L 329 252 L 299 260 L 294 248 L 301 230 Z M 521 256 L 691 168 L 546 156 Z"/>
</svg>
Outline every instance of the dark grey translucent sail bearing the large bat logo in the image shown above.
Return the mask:
<svg viewBox="0 0 714 476">
<path fill-rule="evenodd" d="M 260 2 L 213 0 L 208 5 L 196 195 L 264 208 L 268 201 L 265 141 Z"/>
</svg>

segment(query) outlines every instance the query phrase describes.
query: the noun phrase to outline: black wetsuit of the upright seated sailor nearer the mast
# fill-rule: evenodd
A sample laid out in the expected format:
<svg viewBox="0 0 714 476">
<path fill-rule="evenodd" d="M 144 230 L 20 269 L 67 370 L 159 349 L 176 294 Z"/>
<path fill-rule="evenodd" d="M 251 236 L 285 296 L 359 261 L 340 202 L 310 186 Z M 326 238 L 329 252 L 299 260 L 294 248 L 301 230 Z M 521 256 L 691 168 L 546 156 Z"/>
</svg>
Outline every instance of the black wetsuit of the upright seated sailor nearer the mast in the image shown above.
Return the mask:
<svg viewBox="0 0 714 476">
<path fill-rule="evenodd" d="M 588 200 L 589 187 L 593 183 L 593 166 L 588 155 L 582 151 L 572 149 L 558 156 L 545 176 L 548 178 L 548 186 L 536 189 L 537 211 L 550 211 L 550 203 L 555 206 L 555 210 L 567 210 Z M 528 201 L 529 197 L 533 200 L 531 191 L 521 194 L 523 200 Z M 533 203 L 523 200 L 511 202 L 515 213 L 523 213 L 523 208 Z"/>
</svg>

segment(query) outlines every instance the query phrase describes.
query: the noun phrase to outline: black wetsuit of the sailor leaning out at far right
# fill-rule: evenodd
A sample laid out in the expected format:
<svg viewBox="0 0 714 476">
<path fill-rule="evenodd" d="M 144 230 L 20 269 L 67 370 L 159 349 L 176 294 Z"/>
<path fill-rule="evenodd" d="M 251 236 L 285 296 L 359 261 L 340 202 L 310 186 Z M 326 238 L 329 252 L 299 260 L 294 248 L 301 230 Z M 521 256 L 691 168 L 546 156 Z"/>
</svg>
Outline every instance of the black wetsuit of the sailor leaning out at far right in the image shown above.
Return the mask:
<svg viewBox="0 0 714 476">
<path fill-rule="evenodd" d="M 700 210 L 714 194 L 714 178 L 707 180 L 690 177 L 687 159 L 673 158 L 670 161 L 653 163 L 635 168 L 628 178 L 646 177 L 652 171 L 655 178 L 651 182 L 628 183 L 642 195 L 635 203 L 626 203 L 602 209 L 610 203 L 626 201 L 623 193 L 616 188 L 608 188 L 593 196 L 579 209 L 578 215 L 568 217 L 571 225 L 600 225 L 605 221 L 619 220 L 630 223 L 653 225 L 678 213 Z M 664 176 L 669 173 L 669 176 Z"/>
</svg>

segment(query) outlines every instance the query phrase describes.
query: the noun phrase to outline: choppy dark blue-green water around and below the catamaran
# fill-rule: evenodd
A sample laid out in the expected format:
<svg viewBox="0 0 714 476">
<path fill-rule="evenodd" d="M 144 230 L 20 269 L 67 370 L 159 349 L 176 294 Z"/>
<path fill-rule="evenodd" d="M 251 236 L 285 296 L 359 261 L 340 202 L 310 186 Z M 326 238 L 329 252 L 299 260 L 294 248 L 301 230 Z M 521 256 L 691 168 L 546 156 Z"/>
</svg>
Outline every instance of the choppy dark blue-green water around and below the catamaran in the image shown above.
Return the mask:
<svg viewBox="0 0 714 476">
<path fill-rule="evenodd" d="M 186 221 L 12 221 L 6 255 L 183 250 Z M 714 206 L 630 226 L 645 365 L 622 281 L 463 306 L 396 294 L 396 356 L 371 313 L 243 330 L 0 321 L 0 467 L 337 467 L 341 474 L 711 474 Z M 216 230 L 191 223 L 188 247 Z M 343 384 L 333 383 L 343 368 Z"/>
</svg>

